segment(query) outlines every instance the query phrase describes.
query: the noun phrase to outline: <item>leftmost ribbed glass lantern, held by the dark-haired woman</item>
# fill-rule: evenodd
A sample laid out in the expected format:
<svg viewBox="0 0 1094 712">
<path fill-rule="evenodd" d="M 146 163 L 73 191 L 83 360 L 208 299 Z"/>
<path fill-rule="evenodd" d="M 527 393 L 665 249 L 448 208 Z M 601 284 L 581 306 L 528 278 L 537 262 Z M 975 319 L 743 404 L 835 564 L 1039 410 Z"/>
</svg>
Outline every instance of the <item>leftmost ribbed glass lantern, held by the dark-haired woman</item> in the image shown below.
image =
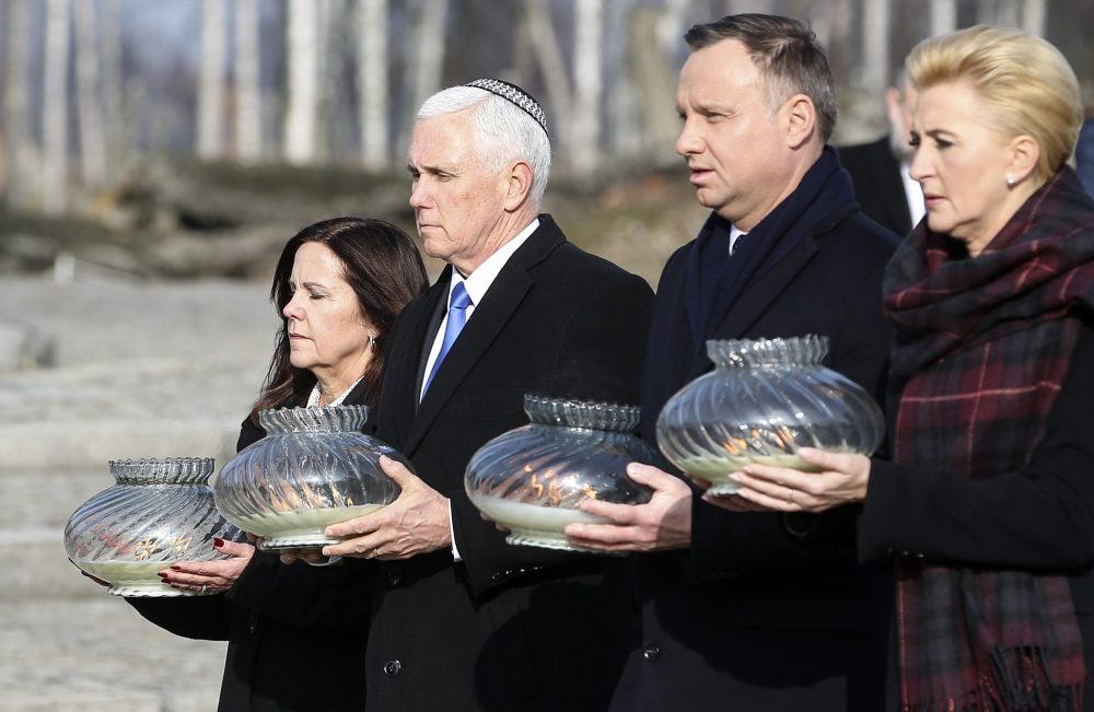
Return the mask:
<svg viewBox="0 0 1094 712">
<path fill-rule="evenodd" d="M 116 596 L 196 596 L 156 572 L 176 561 L 224 559 L 213 538 L 243 540 L 213 505 L 211 458 L 110 460 L 115 485 L 84 502 L 65 527 L 65 550 Z"/>
</svg>

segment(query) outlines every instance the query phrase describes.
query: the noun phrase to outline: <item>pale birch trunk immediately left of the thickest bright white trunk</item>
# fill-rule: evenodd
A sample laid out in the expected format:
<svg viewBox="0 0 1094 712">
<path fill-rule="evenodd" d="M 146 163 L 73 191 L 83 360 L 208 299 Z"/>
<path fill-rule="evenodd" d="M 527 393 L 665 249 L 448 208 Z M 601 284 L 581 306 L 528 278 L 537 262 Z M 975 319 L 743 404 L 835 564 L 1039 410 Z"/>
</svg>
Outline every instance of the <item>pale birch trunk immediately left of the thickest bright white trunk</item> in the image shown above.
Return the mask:
<svg viewBox="0 0 1094 712">
<path fill-rule="evenodd" d="M 235 0 L 235 156 L 263 157 L 263 98 L 259 81 L 258 0 Z"/>
</svg>

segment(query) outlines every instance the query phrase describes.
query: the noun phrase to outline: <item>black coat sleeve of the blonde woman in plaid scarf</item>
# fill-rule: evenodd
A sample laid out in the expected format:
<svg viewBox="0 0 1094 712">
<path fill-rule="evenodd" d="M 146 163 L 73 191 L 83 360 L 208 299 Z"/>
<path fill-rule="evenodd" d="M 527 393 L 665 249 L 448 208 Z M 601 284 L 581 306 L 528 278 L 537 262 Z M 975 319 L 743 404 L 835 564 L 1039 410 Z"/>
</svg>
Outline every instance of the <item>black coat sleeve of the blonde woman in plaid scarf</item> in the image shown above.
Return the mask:
<svg viewBox="0 0 1094 712">
<path fill-rule="evenodd" d="M 973 481 L 874 460 L 859 526 L 861 559 L 931 560 L 1027 569 L 1094 561 L 1094 329 L 1075 345 L 1045 439 L 1022 470 Z"/>
</svg>

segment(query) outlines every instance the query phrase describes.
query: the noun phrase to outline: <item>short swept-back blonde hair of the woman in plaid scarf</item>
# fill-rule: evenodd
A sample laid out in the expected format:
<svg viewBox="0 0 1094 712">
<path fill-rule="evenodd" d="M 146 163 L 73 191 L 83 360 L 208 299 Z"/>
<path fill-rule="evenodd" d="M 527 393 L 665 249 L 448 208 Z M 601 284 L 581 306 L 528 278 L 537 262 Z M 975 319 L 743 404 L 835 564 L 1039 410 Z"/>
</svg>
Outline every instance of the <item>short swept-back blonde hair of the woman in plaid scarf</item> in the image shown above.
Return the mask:
<svg viewBox="0 0 1094 712">
<path fill-rule="evenodd" d="M 977 25 L 916 45 L 905 62 L 920 91 L 967 82 L 1001 135 L 1032 136 L 1035 175 L 1047 180 L 1071 157 L 1083 122 L 1075 73 L 1060 50 L 1019 30 Z"/>
</svg>

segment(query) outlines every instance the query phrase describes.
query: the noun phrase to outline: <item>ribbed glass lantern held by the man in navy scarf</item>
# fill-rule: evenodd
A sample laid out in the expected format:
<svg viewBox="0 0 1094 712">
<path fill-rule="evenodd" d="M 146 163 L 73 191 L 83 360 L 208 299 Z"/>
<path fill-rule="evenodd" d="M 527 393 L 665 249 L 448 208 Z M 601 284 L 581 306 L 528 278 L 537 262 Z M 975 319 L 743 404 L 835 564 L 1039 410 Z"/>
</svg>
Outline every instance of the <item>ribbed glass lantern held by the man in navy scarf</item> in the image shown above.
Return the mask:
<svg viewBox="0 0 1094 712">
<path fill-rule="evenodd" d="M 585 500 L 650 501 L 652 490 L 627 477 L 628 463 L 656 463 L 632 433 L 639 409 L 528 395 L 531 423 L 487 442 L 472 457 L 464 487 L 473 504 L 508 528 L 510 544 L 587 550 L 571 545 L 571 522 L 603 522 L 578 509 Z"/>
</svg>

